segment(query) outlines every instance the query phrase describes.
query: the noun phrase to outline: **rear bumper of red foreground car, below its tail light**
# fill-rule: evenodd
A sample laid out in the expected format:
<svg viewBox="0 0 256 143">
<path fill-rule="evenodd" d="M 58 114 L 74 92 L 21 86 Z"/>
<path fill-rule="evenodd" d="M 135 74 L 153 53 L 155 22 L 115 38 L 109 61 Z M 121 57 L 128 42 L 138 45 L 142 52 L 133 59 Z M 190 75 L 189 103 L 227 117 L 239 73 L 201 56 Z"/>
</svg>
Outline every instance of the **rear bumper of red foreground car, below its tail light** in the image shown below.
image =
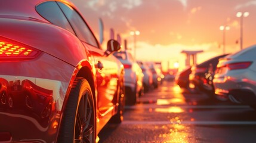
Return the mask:
<svg viewBox="0 0 256 143">
<path fill-rule="evenodd" d="M 11 142 L 54 142 L 74 70 L 48 54 L 32 61 L 2 62 L 0 133 L 11 135 Z"/>
</svg>

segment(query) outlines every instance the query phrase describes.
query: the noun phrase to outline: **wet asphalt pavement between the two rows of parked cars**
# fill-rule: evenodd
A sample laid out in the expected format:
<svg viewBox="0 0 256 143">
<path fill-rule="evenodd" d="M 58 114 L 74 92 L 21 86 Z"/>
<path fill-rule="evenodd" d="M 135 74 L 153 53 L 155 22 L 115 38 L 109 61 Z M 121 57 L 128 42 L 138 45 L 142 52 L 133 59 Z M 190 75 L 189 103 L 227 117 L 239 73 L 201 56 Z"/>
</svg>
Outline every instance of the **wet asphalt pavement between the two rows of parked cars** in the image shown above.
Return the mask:
<svg viewBox="0 0 256 143">
<path fill-rule="evenodd" d="M 107 124 L 100 142 L 256 142 L 256 111 L 209 100 L 165 81 L 126 106 L 120 125 Z"/>
</svg>

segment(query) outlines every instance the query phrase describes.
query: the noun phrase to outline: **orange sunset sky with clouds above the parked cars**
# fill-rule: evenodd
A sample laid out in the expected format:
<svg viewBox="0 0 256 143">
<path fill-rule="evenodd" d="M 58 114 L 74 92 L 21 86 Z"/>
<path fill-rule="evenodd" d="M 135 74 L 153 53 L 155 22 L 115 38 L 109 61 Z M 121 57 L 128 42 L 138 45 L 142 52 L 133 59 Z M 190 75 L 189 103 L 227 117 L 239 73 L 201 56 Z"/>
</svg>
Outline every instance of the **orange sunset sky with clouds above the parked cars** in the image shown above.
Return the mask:
<svg viewBox="0 0 256 143">
<path fill-rule="evenodd" d="M 134 39 L 129 33 L 140 31 L 136 42 L 136 59 L 162 61 L 169 68 L 178 62 L 185 66 L 182 50 L 203 50 L 198 63 L 223 54 L 223 31 L 227 25 L 226 53 L 240 49 L 240 18 L 238 11 L 248 11 L 243 18 L 243 47 L 256 43 L 256 1 L 253 0 L 70 0 L 78 7 L 99 39 L 98 19 L 104 23 L 104 42 L 110 28 L 128 41 L 133 50 Z M 238 43 L 236 43 L 238 41 Z M 103 46 L 103 48 L 105 48 Z M 134 51 L 131 51 L 133 54 Z"/>
</svg>

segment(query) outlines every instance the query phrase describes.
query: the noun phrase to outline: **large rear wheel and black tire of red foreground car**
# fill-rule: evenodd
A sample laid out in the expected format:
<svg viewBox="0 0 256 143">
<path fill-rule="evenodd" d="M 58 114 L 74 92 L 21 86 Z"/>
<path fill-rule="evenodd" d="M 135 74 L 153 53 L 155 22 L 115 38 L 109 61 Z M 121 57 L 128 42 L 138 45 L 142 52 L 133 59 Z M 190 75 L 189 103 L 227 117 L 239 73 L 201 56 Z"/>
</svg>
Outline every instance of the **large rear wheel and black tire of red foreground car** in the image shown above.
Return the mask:
<svg viewBox="0 0 256 143">
<path fill-rule="evenodd" d="M 61 120 L 57 142 L 95 142 L 95 110 L 88 81 L 77 77 Z"/>
</svg>

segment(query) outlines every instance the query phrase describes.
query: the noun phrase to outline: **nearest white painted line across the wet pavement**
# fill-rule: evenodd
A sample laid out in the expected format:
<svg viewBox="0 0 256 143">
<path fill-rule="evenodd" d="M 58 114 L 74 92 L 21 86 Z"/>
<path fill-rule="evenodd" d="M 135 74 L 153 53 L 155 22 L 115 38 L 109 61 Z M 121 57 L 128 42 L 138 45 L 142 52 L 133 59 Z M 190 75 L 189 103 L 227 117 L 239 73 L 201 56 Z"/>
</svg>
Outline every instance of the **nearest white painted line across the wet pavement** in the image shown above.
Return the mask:
<svg viewBox="0 0 256 143">
<path fill-rule="evenodd" d="M 256 125 L 255 121 L 123 121 L 122 125 Z"/>
</svg>

